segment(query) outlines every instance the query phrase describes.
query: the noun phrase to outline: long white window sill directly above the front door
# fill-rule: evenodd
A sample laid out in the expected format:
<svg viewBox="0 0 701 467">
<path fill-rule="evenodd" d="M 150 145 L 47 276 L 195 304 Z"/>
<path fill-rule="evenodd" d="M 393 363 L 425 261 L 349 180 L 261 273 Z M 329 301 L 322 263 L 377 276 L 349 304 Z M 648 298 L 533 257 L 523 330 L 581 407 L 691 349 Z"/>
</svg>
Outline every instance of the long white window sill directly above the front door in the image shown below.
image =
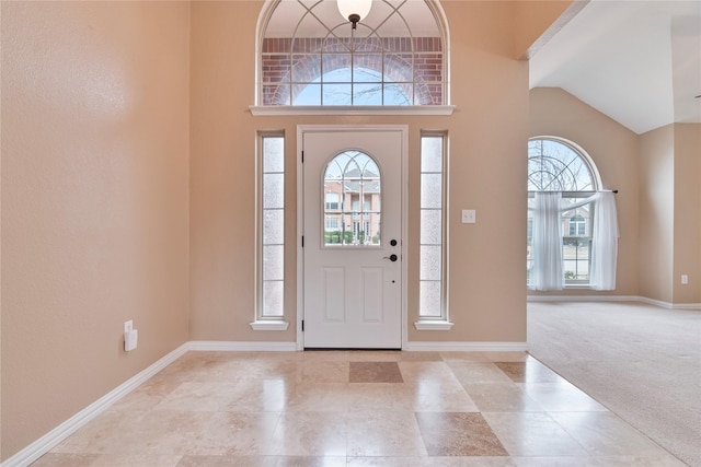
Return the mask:
<svg viewBox="0 0 701 467">
<path fill-rule="evenodd" d="M 285 115 L 452 115 L 455 105 L 251 105 L 254 116 Z"/>
</svg>

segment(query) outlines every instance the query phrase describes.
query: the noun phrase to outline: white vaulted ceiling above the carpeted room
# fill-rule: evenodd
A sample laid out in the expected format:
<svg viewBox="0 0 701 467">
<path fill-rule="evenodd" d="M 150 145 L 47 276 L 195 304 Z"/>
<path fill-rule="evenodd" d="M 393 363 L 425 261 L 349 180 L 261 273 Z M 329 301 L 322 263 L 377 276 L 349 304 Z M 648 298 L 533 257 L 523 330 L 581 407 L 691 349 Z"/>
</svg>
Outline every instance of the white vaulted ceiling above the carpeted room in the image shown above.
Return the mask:
<svg viewBox="0 0 701 467">
<path fill-rule="evenodd" d="M 701 1 L 591 0 L 529 65 L 636 133 L 701 122 Z"/>
</svg>

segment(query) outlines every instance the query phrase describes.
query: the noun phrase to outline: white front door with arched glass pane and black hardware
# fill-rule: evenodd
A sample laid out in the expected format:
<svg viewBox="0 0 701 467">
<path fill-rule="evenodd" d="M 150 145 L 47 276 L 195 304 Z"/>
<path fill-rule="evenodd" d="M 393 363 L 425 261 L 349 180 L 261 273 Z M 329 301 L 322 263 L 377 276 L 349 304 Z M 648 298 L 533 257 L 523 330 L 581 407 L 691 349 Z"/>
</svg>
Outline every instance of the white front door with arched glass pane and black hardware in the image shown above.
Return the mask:
<svg viewBox="0 0 701 467">
<path fill-rule="evenodd" d="M 306 348 L 402 347 L 405 127 L 302 131 Z"/>
</svg>

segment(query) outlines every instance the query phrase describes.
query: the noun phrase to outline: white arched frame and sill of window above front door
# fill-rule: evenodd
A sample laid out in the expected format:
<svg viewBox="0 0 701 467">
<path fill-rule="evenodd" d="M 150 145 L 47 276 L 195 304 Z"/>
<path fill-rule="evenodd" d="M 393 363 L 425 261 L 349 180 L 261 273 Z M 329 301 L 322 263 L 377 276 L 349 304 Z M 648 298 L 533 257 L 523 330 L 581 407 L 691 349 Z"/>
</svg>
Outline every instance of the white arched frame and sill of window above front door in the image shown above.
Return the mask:
<svg viewBox="0 0 701 467">
<path fill-rule="evenodd" d="M 444 82 L 444 103 L 441 105 L 352 105 L 352 106 L 295 106 L 295 105 L 262 105 L 261 104 L 261 84 L 262 84 L 262 49 L 263 40 L 267 24 L 273 15 L 276 5 L 280 0 L 266 0 L 258 22 L 256 24 L 256 44 L 255 44 L 255 104 L 251 105 L 250 112 L 254 116 L 271 115 L 452 115 L 455 106 L 450 105 L 450 40 L 449 30 L 446 14 L 438 0 L 424 0 L 434 13 L 437 25 L 440 30 L 443 42 L 443 82 Z M 376 0 L 380 1 L 380 0 Z M 349 26 L 348 26 L 349 27 Z"/>
</svg>

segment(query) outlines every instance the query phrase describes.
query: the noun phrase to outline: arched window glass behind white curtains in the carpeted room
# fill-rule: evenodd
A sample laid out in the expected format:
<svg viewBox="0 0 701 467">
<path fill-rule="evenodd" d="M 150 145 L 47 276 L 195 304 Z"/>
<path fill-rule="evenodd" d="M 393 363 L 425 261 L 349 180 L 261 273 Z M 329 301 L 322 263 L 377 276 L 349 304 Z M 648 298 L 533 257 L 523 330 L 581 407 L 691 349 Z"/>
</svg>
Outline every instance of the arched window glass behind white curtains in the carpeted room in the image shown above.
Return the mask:
<svg viewBox="0 0 701 467">
<path fill-rule="evenodd" d="M 591 195 L 601 188 L 596 166 L 588 154 L 572 141 L 554 137 L 531 138 L 528 142 L 528 256 L 529 287 L 533 285 L 535 243 L 539 230 L 533 227 L 536 194 L 556 194 L 562 240 L 561 262 L 564 284 L 589 284 L 591 268 Z M 542 225 L 542 224 L 541 224 Z M 539 244 L 542 244 L 539 243 Z M 540 289 L 540 287 L 535 287 Z M 547 290 L 547 289 L 540 289 Z"/>
</svg>

